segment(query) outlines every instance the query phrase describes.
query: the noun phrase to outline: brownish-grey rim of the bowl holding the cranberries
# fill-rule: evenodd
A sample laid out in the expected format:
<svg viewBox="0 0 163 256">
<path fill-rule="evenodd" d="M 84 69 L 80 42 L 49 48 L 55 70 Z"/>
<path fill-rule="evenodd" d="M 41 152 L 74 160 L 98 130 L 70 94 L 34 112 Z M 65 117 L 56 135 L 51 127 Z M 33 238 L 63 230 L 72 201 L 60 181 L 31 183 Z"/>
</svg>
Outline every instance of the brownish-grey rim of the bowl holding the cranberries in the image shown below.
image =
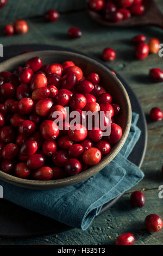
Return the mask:
<svg viewBox="0 0 163 256">
<path fill-rule="evenodd" d="M 130 99 L 128 96 L 128 93 L 126 89 L 124 88 L 121 81 L 112 74 L 112 72 L 102 63 L 98 62 L 98 60 L 94 59 L 93 57 L 85 56 L 84 54 L 76 53 L 76 52 L 70 52 L 70 51 L 57 51 L 57 50 L 50 50 L 50 51 L 35 51 L 25 54 L 20 54 L 18 56 L 9 58 L 5 60 L 4 62 L 0 63 L 0 71 L 3 69 L 3 66 L 8 65 L 9 63 L 15 63 L 15 62 L 26 62 L 29 58 L 35 57 L 35 56 L 41 56 L 43 58 L 44 56 L 51 54 L 64 54 L 64 56 L 72 56 L 80 59 L 84 59 L 87 62 L 93 62 L 94 65 L 98 66 L 98 68 L 104 70 L 105 72 L 108 72 L 109 75 L 112 77 L 112 79 L 116 82 L 117 86 L 120 88 L 124 101 L 127 106 L 127 119 L 126 119 L 126 125 L 123 130 L 122 137 L 120 141 L 118 141 L 114 148 L 110 151 L 108 155 L 106 155 L 98 164 L 95 166 L 90 167 L 89 169 L 85 170 L 82 173 L 79 173 L 77 175 L 68 176 L 64 179 L 58 179 L 58 180 L 46 180 L 46 181 L 40 181 L 40 180 L 28 180 L 28 179 L 22 179 L 18 178 L 14 175 L 4 173 L 2 170 L 0 170 L 0 179 L 3 181 L 8 182 L 9 184 L 25 187 L 29 189 L 36 189 L 36 190 L 45 190 L 45 189 L 51 189 L 51 188 L 60 188 L 60 187 L 66 187 L 70 185 L 77 184 L 79 182 L 82 182 L 86 179 L 89 179 L 92 175 L 95 175 L 98 173 L 101 169 L 103 169 L 107 164 L 109 164 L 114 157 L 120 152 L 121 148 L 123 147 L 124 143 L 126 142 L 126 139 L 128 137 L 130 126 L 131 126 L 131 104 Z M 55 55 L 54 55 L 55 56 Z M 70 57 L 69 57 L 70 58 Z M 3 71 L 3 70 L 2 70 Z"/>
</svg>

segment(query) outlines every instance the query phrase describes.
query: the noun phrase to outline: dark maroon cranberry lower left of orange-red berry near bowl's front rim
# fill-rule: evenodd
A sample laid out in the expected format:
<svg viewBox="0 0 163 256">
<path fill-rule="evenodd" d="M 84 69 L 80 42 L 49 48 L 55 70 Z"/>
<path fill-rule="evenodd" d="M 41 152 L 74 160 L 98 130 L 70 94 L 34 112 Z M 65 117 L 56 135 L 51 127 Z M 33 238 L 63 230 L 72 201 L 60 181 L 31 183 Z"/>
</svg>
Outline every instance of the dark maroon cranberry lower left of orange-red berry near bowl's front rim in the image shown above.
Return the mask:
<svg viewBox="0 0 163 256">
<path fill-rule="evenodd" d="M 82 170 L 82 164 L 78 159 L 68 159 L 65 162 L 65 172 L 69 175 L 76 175 Z"/>
</svg>

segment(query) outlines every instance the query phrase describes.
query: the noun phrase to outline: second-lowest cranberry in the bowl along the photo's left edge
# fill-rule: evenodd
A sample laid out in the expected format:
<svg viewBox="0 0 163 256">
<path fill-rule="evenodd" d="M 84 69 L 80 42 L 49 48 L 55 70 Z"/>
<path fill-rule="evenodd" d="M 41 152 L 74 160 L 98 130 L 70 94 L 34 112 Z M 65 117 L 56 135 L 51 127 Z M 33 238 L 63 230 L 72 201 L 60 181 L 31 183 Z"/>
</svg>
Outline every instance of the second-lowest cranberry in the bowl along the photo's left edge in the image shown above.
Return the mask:
<svg viewBox="0 0 163 256">
<path fill-rule="evenodd" d="M 17 145 L 14 143 L 9 143 L 5 145 L 5 147 L 2 150 L 2 157 L 5 160 L 12 160 L 15 158 L 17 154 L 18 154 L 18 148 L 17 148 Z"/>
</svg>

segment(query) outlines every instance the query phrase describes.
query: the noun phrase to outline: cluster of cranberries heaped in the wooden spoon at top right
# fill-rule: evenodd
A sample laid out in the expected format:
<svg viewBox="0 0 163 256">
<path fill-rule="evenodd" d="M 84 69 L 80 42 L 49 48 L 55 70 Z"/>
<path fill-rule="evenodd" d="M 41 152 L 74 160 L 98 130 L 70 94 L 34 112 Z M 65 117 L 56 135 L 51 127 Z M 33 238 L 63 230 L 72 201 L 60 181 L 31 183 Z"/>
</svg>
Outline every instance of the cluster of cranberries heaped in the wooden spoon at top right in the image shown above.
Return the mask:
<svg viewBox="0 0 163 256">
<path fill-rule="evenodd" d="M 105 21 L 118 22 L 142 15 L 142 0 L 90 0 L 89 8 L 98 11 Z"/>
</svg>

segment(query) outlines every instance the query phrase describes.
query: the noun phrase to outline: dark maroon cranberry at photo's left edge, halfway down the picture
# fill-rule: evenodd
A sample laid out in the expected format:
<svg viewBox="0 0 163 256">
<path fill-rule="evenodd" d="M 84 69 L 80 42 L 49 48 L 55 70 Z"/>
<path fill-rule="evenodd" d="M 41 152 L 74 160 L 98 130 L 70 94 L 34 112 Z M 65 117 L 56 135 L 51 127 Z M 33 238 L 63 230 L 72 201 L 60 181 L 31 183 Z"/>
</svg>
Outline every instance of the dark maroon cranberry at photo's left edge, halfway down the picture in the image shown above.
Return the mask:
<svg viewBox="0 0 163 256">
<path fill-rule="evenodd" d="M 5 125 L 1 128 L 1 130 L 0 130 L 1 142 L 10 143 L 10 142 L 14 141 L 14 138 L 15 138 L 15 132 L 11 126 Z"/>
</svg>

